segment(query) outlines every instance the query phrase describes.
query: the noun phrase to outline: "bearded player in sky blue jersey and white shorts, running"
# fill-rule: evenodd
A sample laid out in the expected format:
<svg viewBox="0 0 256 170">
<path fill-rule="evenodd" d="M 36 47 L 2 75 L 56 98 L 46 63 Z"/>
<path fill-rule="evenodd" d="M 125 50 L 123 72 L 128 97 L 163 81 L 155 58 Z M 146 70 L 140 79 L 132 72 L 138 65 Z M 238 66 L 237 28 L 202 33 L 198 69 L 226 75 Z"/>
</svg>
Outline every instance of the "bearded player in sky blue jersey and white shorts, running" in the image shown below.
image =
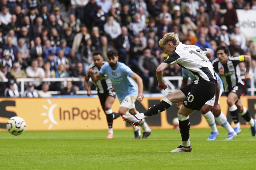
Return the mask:
<svg viewBox="0 0 256 170">
<path fill-rule="evenodd" d="M 111 80 L 116 95 L 121 103 L 118 113 L 120 115 L 136 115 L 138 114 L 135 108 L 135 101 L 138 99 L 143 100 L 143 82 L 140 76 L 134 73 L 127 65 L 118 62 L 118 53 L 114 50 L 107 51 L 108 63 L 105 63 L 101 68 L 99 73 L 94 75 L 93 69 L 88 71 L 88 74 L 92 78 L 92 81 L 97 82 L 104 75 L 107 75 Z M 138 90 L 131 81 L 131 78 L 138 83 Z M 145 120 L 141 120 L 140 125 L 144 130 L 142 138 L 147 138 L 151 134 L 151 129 L 149 129 Z M 135 139 L 140 139 L 141 131 L 137 126 L 132 126 L 134 130 Z"/>
</svg>

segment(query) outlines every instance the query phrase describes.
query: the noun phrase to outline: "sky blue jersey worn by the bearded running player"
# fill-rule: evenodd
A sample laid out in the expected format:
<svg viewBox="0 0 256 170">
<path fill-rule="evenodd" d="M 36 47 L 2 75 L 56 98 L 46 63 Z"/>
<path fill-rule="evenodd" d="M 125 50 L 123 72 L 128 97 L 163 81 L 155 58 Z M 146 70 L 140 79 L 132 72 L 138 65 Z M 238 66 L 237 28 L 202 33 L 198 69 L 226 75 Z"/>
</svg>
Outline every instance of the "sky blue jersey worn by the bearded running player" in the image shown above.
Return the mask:
<svg viewBox="0 0 256 170">
<path fill-rule="evenodd" d="M 99 73 L 108 75 L 119 100 L 124 100 L 125 96 L 128 95 L 138 95 L 138 90 L 130 78 L 134 72 L 124 63 L 118 62 L 116 69 L 112 69 L 109 63 L 105 63 L 100 68 Z"/>
</svg>

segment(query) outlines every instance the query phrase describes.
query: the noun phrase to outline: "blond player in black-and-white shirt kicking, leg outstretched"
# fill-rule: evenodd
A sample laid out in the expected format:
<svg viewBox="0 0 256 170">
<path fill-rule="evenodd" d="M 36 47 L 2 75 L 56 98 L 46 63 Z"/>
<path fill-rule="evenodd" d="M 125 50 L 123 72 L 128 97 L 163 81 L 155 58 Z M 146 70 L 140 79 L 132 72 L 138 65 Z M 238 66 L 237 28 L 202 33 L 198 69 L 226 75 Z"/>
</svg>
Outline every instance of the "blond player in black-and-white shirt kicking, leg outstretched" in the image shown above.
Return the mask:
<svg viewBox="0 0 256 170">
<path fill-rule="evenodd" d="M 160 90 L 166 89 L 163 80 L 163 70 L 172 64 L 178 63 L 182 68 L 189 70 L 196 79 L 193 83 L 182 87 L 180 90 L 169 93 L 164 100 L 150 107 L 144 113 L 132 116 L 122 116 L 129 123 L 138 125 L 144 118 L 156 115 L 171 107 L 173 103 L 183 101 L 183 106 L 178 111 L 181 144 L 171 152 L 191 152 L 189 141 L 189 115 L 195 110 L 200 110 L 205 102 L 212 99 L 216 91 L 217 78 L 215 77 L 212 63 L 206 55 L 211 54 L 211 49 L 199 48 L 195 45 L 184 45 L 179 41 L 177 34 L 166 33 L 159 41 L 164 53 L 169 56 L 156 69 L 156 77 Z"/>
</svg>

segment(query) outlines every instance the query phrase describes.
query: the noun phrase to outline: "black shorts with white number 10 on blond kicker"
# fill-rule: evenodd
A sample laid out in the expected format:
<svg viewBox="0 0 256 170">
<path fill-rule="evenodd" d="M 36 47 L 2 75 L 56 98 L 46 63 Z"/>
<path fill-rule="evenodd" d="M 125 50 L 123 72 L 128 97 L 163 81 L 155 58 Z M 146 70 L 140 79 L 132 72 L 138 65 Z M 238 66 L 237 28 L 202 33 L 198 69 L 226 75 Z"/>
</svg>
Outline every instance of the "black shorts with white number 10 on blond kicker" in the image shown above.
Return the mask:
<svg viewBox="0 0 256 170">
<path fill-rule="evenodd" d="M 197 84 L 192 82 L 180 90 L 187 96 L 183 106 L 192 110 L 200 110 L 206 101 L 211 100 L 216 92 L 216 80 L 199 80 Z"/>
</svg>

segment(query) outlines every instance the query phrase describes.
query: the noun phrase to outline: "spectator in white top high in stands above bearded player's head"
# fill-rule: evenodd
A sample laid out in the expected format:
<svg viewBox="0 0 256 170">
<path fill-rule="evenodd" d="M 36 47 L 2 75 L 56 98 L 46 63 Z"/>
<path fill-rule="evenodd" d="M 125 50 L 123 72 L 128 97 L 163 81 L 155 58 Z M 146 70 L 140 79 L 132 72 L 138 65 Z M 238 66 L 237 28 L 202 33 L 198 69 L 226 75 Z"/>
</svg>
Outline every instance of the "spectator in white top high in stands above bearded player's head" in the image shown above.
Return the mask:
<svg viewBox="0 0 256 170">
<path fill-rule="evenodd" d="M 108 22 L 104 24 L 104 31 L 110 35 L 111 39 L 116 39 L 118 35 L 121 34 L 121 27 L 114 17 L 108 17 Z"/>
</svg>

